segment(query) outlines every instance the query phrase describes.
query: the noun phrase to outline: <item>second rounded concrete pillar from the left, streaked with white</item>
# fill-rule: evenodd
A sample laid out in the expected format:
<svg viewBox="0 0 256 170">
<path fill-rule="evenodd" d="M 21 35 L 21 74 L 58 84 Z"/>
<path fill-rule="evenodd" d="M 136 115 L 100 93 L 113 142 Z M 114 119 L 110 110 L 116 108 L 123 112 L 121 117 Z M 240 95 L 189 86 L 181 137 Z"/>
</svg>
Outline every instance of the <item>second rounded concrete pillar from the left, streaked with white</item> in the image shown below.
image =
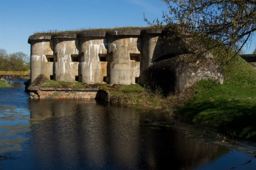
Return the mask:
<svg viewBox="0 0 256 170">
<path fill-rule="evenodd" d="M 76 34 L 52 35 L 56 63 L 54 74 L 56 81 L 74 82 L 78 79 L 78 40 Z"/>
</svg>

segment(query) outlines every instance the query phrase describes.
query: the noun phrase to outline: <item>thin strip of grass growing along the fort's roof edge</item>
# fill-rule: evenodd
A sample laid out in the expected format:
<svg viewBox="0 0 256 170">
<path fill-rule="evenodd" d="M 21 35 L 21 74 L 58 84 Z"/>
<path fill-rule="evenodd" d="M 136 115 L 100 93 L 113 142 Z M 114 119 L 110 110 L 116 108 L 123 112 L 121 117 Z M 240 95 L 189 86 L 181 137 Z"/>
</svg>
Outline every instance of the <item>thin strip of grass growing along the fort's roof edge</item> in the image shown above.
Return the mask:
<svg viewBox="0 0 256 170">
<path fill-rule="evenodd" d="M 149 26 L 152 27 L 152 26 Z M 77 30 L 66 30 L 66 31 L 59 31 L 59 30 L 49 30 L 49 31 L 42 31 L 42 32 L 35 32 L 34 35 L 55 35 L 55 34 L 64 34 L 64 33 L 74 33 L 78 34 L 84 31 L 110 31 L 110 30 L 123 30 L 123 29 L 145 29 L 149 27 L 115 27 L 115 28 L 81 28 Z"/>
</svg>

